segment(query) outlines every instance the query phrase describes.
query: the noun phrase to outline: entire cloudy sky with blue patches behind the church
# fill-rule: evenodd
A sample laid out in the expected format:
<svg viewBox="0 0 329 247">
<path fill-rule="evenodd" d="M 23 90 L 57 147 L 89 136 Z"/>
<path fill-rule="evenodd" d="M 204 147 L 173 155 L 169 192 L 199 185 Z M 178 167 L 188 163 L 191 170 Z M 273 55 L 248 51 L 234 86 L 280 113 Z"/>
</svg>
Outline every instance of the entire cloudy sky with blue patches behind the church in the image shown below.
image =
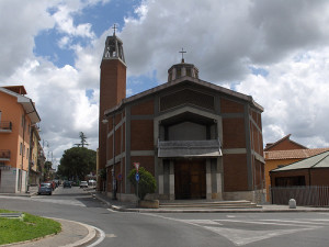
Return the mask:
<svg viewBox="0 0 329 247">
<path fill-rule="evenodd" d="M 83 132 L 98 148 L 105 38 L 123 41 L 127 96 L 180 63 L 264 108 L 264 145 L 329 147 L 327 0 L 1 0 L 0 87 L 23 85 L 56 166 Z"/>
</svg>

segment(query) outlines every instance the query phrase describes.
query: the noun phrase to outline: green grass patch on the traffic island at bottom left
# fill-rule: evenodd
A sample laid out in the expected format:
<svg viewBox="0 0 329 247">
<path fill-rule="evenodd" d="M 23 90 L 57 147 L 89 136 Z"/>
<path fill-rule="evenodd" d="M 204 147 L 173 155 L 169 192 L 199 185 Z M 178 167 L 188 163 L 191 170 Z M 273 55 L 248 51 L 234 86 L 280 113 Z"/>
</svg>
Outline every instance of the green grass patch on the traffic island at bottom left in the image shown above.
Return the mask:
<svg viewBox="0 0 329 247">
<path fill-rule="evenodd" d="M 13 211 L 0 210 L 0 213 L 13 213 Z M 27 213 L 24 213 L 23 220 L 0 218 L 0 245 L 44 237 L 60 231 L 60 223 Z"/>
</svg>

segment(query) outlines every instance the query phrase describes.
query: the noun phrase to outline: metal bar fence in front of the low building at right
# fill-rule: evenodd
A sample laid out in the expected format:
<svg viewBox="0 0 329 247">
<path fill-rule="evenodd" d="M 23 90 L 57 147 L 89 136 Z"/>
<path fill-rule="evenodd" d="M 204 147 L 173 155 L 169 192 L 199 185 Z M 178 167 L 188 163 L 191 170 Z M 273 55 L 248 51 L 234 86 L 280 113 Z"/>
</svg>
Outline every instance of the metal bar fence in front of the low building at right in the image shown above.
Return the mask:
<svg viewBox="0 0 329 247">
<path fill-rule="evenodd" d="M 295 199 L 297 205 L 329 206 L 329 187 L 274 187 L 271 197 L 272 204 L 287 205 Z"/>
</svg>

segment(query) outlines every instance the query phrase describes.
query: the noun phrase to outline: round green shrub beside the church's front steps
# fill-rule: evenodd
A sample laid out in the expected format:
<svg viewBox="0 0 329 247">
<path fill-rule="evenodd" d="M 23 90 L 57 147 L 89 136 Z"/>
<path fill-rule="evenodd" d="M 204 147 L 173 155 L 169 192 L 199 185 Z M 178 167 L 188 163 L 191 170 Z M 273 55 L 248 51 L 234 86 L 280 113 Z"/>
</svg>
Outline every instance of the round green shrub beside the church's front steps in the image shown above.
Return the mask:
<svg viewBox="0 0 329 247">
<path fill-rule="evenodd" d="M 133 187 L 135 188 L 135 194 L 144 200 L 145 195 L 148 193 L 155 193 L 157 189 L 157 182 L 155 177 L 148 172 L 144 167 L 138 169 L 139 182 L 138 182 L 138 194 L 137 194 L 137 182 L 136 182 L 136 169 L 131 170 L 128 179 Z"/>
</svg>

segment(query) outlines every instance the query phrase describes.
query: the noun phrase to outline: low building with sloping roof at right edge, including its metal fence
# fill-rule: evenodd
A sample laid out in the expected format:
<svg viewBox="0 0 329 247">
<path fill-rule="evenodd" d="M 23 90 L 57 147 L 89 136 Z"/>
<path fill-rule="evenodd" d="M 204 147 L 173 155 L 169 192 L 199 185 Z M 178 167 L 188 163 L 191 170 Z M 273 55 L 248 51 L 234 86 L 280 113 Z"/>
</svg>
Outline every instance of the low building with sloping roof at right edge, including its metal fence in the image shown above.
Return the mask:
<svg viewBox="0 0 329 247">
<path fill-rule="evenodd" d="M 272 203 L 329 205 L 329 150 L 270 171 Z"/>
</svg>

